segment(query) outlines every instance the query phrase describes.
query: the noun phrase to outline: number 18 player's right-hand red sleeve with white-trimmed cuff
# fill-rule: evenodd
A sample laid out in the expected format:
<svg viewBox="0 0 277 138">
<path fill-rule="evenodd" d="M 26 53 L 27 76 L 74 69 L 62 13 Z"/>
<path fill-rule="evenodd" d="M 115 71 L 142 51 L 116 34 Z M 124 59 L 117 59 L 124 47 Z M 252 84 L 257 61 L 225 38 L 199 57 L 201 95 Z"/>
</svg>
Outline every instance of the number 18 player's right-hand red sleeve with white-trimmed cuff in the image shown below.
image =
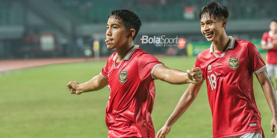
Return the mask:
<svg viewBox="0 0 277 138">
<path fill-rule="evenodd" d="M 248 66 L 250 67 L 250 71 L 256 75 L 265 70 L 265 63 L 256 46 L 249 42 L 247 45 L 247 50 Z"/>
</svg>

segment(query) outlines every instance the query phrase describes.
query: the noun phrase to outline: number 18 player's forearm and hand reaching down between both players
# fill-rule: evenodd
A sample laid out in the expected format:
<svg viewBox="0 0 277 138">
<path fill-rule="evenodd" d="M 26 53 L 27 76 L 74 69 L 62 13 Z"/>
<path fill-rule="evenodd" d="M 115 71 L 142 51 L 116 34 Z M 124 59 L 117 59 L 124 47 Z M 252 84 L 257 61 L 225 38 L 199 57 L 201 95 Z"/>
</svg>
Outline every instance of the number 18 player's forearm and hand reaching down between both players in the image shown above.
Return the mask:
<svg viewBox="0 0 277 138">
<path fill-rule="evenodd" d="M 182 114 L 187 110 L 187 108 L 191 105 L 191 103 L 196 98 L 202 84 L 204 81 L 201 81 L 198 84 L 190 84 L 183 94 L 178 104 L 176 105 L 173 113 L 167 119 L 165 125 L 158 131 L 156 138 L 165 138 L 169 131 L 171 130 L 171 126 L 182 116 Z"/>
</svg>

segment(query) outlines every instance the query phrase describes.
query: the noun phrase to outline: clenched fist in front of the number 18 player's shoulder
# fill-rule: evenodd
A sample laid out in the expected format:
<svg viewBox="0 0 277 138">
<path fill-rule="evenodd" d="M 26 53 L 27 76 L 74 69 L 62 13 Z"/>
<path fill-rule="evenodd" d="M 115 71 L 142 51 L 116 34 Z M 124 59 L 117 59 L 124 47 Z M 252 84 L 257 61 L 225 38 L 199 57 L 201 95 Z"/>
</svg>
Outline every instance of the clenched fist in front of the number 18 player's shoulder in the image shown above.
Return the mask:
<svg viewBox="0 0 277 138">
<path fill-rule="evenodd" d="M 187 70 L 187 77 L 191 83 L 197 84 L 202 81 L 203 72 L 199 67 L 194 67 L 191 70 Z"/>
</svg>

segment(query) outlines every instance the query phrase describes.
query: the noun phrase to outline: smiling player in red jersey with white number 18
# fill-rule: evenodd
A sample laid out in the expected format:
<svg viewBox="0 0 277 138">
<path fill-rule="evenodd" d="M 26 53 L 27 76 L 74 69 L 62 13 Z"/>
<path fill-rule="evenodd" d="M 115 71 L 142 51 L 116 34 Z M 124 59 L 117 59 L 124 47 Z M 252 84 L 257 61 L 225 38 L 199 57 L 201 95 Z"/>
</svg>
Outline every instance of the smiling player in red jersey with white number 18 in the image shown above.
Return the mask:
<svg viewBox="0 0 277 138">
<path fill-rule="evenodd" d="M 277 101 L 263 59 L 251 42 L 227 36 L 228 10 L 210 2 L 200 10 L 201 32 L 211 47 L 198 54 L 195 66 L 203 71 L 213 117 L 213 138 L 262 138 L 253 73 L 260 82 L 272 113 L 271 132 L 277 126 Z M 196 98 L 204 81 L 190 84 L 157 138 L 165 138 L 171 126 Z M 197 135 L 197 134 L 195 134 Z"/>
</svg>

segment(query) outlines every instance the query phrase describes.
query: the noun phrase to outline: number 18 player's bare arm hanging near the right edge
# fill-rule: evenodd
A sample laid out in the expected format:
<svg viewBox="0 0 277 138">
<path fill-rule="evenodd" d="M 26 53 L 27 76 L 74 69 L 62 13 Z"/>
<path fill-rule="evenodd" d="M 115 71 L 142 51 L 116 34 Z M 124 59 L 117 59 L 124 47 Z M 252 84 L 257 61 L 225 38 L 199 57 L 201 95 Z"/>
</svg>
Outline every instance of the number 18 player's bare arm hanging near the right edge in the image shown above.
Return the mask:
<svg viewBox="0 0 277 138">
<path fill-rule="evenodd" d="M 262 88 L 264 96 L 267 100 L 267 103 L 270 107 L 272 113 L 272 120 L 271 120 L 271 133 L 274 134 L 274 128 L 277 128 L 277 100 L 276 95 L 273 89 L 273 86 L 270 82 L 270 79 L 267 74 L 267 70 L 262 71 L 261 73 L 257 74 L 257 79 L 259 80 Z M 277 138 L 277 135 L 275 136 Z"/>
</svg>

